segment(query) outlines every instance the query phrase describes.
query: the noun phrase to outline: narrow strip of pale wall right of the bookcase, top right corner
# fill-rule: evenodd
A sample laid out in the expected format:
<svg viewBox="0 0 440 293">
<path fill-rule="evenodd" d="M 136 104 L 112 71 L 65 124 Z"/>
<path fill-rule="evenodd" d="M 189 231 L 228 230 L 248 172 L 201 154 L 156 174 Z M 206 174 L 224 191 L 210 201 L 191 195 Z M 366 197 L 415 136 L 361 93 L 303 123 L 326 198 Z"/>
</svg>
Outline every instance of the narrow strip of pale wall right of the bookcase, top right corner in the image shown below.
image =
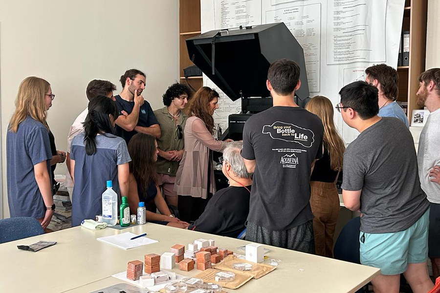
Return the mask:
<svg viewBox="0 0 440 293">
<path fill-rule="evenodd" d="M 426 69 L 440 67 L 440 1 L 428 0 L 428 26 L 426 32 Z"/>
</svg>

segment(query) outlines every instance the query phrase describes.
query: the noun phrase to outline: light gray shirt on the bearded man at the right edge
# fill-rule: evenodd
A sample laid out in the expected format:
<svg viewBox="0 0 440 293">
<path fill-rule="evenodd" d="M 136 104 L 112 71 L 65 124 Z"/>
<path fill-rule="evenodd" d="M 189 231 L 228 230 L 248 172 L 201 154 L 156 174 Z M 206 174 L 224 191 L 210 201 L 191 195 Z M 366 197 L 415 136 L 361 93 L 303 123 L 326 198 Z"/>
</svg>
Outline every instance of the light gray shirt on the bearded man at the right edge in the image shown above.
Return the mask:
<svg viewBox="0 0 440 293">
<path fill-rule="evenodd" d="M 440 165 L 440 109 L 431 112 L 418 140 L 418 176 L 428 200 L 440 204 L 440 184 L 432 182 L 429 171 Z"/>
</svg>

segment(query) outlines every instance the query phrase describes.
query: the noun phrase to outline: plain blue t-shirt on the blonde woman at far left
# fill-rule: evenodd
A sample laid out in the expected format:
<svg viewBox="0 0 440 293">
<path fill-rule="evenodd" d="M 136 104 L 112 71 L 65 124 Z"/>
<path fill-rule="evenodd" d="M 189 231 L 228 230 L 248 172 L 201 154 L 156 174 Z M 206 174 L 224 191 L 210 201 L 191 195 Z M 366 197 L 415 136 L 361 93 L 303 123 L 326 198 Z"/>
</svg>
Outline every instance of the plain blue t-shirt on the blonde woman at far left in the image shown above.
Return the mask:
<svg viewBox="0 0 440 293">
<path fill-rule="evenodd" d="M 11 217 L 44 217 L 44 201 L 35 181 L 34 165 L 46 161 L 50 174 L 49 132 L 30 116 L 20 123 L 17 133 L 6 134 L 8 205 Z M 50 176 L 49 176 L 50 178 Z"/>
</svg>

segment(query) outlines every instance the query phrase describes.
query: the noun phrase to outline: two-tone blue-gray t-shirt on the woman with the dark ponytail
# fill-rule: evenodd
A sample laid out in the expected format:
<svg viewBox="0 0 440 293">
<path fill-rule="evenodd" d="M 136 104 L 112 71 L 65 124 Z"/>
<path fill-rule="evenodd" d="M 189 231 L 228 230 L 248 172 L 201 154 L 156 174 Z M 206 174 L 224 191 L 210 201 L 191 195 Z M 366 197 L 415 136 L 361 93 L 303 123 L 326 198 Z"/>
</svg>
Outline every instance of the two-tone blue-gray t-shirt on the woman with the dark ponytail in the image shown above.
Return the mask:
<svg viewBox="0 0 440 293">
<path fill-rule="evenodd" d="M 84 219 L 102 214 L 101 195 L 111 180 L 119 194 L 118 166 L 130 162 L 125 140 L 112 134 L 96 136 L 96 153 L 89 156 L 84 145 L 84 132 L 72 140 L 70 158 L 75 161 L 72 194 L 72 227 Z"/>
</svg>

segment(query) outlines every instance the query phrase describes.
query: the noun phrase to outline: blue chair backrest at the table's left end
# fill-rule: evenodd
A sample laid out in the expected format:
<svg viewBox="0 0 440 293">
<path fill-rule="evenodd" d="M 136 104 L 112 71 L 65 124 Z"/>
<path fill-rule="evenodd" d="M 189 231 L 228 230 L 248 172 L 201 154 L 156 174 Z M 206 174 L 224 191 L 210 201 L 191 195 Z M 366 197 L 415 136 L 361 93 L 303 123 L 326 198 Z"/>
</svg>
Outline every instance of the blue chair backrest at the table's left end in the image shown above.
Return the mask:
<svg viewBox="0 0 440 293">
<path fill-rule="evenodd" d="M 0 220 L 0 243 L 44 234 L 40 222 L 30 217 Z"/>
</svg>

